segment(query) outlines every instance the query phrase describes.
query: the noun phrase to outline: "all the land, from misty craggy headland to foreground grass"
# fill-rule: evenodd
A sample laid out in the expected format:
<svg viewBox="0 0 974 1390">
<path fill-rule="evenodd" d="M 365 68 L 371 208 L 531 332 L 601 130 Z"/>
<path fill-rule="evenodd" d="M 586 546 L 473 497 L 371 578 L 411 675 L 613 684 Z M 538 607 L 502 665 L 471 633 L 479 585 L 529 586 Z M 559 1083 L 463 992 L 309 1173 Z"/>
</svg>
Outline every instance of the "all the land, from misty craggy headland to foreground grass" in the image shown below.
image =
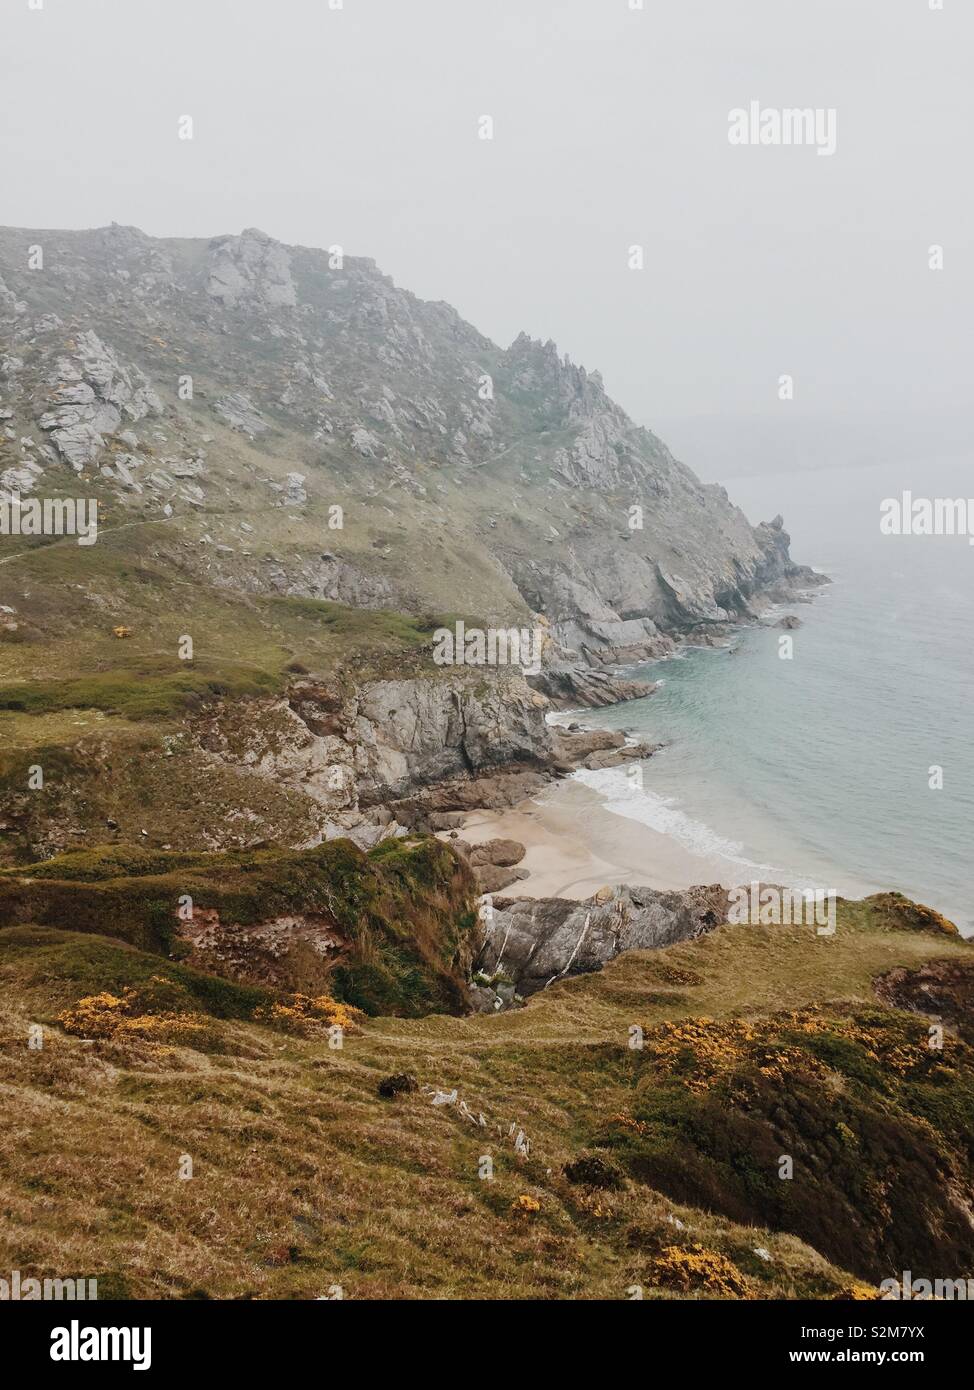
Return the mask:
<svg viewBox="0 0 974 1390">
<path fill-rule="evenodd" d="M 949 923 L 731 924 L 572 853 L 532 894 L 497 831 L 652 759 L 566 712 L 823 582 L 597 371 L 336 247 L 6 228 L 0 493 L 99 518 L 0 537 L 10 1268 L 845 1298 L 970 1259 Z M 438 663 L 460 621 L 536 667 Z"/>
</svg>

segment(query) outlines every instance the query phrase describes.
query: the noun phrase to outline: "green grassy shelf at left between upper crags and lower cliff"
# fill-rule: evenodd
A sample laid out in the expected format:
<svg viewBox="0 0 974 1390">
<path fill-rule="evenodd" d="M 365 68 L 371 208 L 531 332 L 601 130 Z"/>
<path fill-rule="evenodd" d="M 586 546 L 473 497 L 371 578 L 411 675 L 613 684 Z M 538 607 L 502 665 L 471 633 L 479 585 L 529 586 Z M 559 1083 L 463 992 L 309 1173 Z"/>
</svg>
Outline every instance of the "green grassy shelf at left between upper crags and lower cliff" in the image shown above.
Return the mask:
<svg viewBox="0 0 974 1390">
<path fill-rule="evenodd" d="M 243 513 L 246 516 L 247 513 Z M 276 523 L 276 518 L 272 518 Z M 138 703 L 146 678 L 160 687 L 188 673 L 228 681 L 251 673 L 264 682 L 289 660 L 320 669 L 408 653 L 429 642 L 436 621 L 393 612 L 363 612 L 314 599 L 288 599 L 235 591 L 210 574 L 203 535 L 220 535 L 217 517 L 181 517 L 104 528 L 96 546 L 74 542 L 35 546 L 0 569 L 11 605 L 24 623 L 24 639 L 0 646 L 0 710 L 44 713 L 72 703 L 119 710 L 129 717 L 179 709 L 178 689 L 168 705 Z M 286 521 L 276 523 L 286 528 Z M 315 534 L 308 523 L 304 541 Z M 318 549 L 322 546 L 317 531 Z M 283 535 L 281 546 L 295 545 Z M 261 550 L 270 548 L 261 546 Z M 211 545 L 210 545 L 211 550 Z M 253 567 L 253 560 L 247 562 Z M 118 639 L 115 627 L 131 637 Z M 193 639 L 193 662 L 181 660 L 183 635 Z M 432 662 L 428 663 L 432 666 Z M 108 673 L 140 689 L 106 692 Z M 83 682 L 90 682 L 90 689 Z M 126 708 L 128 706 L 128 708 Z"/>
</svg>

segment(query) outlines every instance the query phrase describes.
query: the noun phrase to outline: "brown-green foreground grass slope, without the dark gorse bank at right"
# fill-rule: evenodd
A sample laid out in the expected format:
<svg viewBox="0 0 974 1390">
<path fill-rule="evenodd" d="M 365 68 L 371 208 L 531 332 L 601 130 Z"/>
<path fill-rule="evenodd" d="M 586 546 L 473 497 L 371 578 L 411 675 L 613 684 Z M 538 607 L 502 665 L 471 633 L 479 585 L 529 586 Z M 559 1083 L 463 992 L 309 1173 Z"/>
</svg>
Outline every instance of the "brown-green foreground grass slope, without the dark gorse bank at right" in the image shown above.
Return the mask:
<svg viewBox="0 0 974 1390">
<path fill-rule="evenodd" d="M 46 930 L 43 941 L 26 927 L 0 933 L 0 1262 L 96 1272 L 106 1294 L 133 1297 L 307 1298 L 340 1284 L 372 1298 L 622 1298 L 634 1283 L 647 1297 L 735 1287 L 832 1297 L 849 1275 L 791 1234 L 681 1207 L 641 1183 L 572 1186 L 563 1165 L 636 1097 L 632 1023 L 873 1001 L 873 979 L 896 965 L 970 956 L 957 938 L 899 930 L 878 905 L 846 903 L 834 938 L 724 927 L 622 956 L 520 1012 L 374 1019 L 342 1051 L 224 1019 L 220 1051 L 85 1045 L 49 1027 L 32 1052 L 31 1020 L 50 1023 L 93 988 L 158 969 L 157 958 L 97 937 Z M 459 1087 L 488 1129 L 422 1093 L 381 1099 L 378 1080 L 402 1070 Z M 531 1140 L 527 1159 L 513 1152 L 513 1122 Z M 185 1152 L 190 1182 L 176 1176 Z M 478 1177 L 484 1154 L 493 1182 Z M 539 1209 L 511 1211 L 521 1195 Z M 682 1254 L 661 1254 L 667 1245 Z M 713 1258 L 686 1255 L 688 1245 Z"/>
</svg>

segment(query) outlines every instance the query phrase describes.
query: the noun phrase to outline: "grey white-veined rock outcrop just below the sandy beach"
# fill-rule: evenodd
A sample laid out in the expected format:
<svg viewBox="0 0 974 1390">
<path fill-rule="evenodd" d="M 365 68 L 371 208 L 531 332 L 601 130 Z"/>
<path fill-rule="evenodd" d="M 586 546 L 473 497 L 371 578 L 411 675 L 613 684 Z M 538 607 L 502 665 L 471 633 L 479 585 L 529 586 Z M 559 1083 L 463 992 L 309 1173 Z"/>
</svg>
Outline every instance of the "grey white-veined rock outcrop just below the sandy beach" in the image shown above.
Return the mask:
<svg viewBox="0 0 974 1390">
<path fill-rule="evenodd" d="M 600 970 L 622 951 L 691 941 L 725 922 L 727 909 L 720 885 L 682 892 L 624 885 L 585 902 L 499 898 L 475 965 L 486 976 L 510 976 L 527 997 L 564 976 Z"/>
</svg>

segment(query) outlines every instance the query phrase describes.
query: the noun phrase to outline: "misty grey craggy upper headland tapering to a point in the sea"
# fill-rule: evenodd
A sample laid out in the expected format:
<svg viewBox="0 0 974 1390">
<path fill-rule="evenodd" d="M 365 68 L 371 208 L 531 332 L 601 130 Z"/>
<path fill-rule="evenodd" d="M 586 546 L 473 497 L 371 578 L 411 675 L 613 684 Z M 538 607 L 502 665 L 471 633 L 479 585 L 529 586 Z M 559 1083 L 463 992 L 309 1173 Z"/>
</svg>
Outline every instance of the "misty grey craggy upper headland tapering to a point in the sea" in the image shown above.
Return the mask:
<svg viewBox="0 0 974 1390">
<path fill-rule="evenodd" d="M 3 229 L 0 275 L 8 491 L 83 482 L 129 523 L 243 509 L 251 552 L 261 496 L 308 520 L 340 505 L 361 534 L 354 555 L 347 531 L 328 549 L 350 573 L 367 557 L 364 603 L 542 612 L 596 666 L 664 655 L 674 632 L 749 616 L 770 585 L 811 582 L 779 518 L 752 528 L 597 373 L 525 334 L 502 350 L 371 260 L 253 228 Z M 274 571 L 226 559 L 220 582 L 315 596 L 314 532 Z M 239 535 L 220 539 L 236 550 Z"/>
</svg>

